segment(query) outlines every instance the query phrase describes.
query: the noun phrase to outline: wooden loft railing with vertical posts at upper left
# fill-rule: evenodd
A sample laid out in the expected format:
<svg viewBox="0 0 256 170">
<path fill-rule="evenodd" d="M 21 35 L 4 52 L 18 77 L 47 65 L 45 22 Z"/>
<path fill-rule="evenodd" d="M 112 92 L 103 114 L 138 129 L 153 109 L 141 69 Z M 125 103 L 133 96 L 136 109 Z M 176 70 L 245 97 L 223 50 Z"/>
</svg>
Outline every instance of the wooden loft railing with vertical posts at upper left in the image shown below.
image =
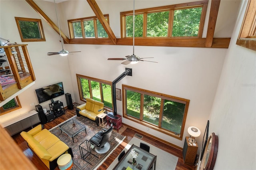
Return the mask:
<svg viewBox="0 0 256 170">
<path fill-rule="evenodd" d="M 26 45 L 0 46 L 0 101 L 36 80 Z"/>
</svg>

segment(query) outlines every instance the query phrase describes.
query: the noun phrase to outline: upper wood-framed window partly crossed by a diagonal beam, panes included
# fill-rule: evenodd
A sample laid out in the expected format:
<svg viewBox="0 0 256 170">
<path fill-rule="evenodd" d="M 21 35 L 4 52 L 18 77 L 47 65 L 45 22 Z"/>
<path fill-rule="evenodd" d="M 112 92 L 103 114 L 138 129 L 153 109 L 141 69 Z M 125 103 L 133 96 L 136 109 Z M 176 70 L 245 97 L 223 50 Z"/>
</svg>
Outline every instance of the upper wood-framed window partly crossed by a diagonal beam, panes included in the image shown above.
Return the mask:
<svg viewBox="0 0 256 170">
<path fill-rule="evenodd" d="M 109 22 L 108 14 L 104 15 Z M 100 21 L 94 17 L 68 20 L 70 38 L 108 38 Z"/>
</svg>

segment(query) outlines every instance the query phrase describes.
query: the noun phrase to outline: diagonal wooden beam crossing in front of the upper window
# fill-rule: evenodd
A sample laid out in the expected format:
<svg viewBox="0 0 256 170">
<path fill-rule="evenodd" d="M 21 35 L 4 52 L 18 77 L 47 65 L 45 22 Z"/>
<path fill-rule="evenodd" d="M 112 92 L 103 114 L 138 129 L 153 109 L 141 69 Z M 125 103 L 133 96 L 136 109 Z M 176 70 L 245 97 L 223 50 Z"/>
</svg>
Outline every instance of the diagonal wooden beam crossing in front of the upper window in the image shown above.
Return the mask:
<svg viewBox="0 0 256 170">
<path fill-rule="evenodd" d="M 104 15 L 102 14 L 98 4 L 96 3 L 96 1 L 95 0 L 87 0 L 87 2 L 90 5 L 90 7 L 92 8 L 95 15 L 97 16 L 100 23 L 102 24 L 103 28 L 106 30 L 109 38 L 112 40 L 112 42 L 114 44 L 116 44 L 116 36 L 113 33 L 113 31 L 111 30 L 108 22 L 106 21 L 106 19 L 105 19 Z"/>
</svg>

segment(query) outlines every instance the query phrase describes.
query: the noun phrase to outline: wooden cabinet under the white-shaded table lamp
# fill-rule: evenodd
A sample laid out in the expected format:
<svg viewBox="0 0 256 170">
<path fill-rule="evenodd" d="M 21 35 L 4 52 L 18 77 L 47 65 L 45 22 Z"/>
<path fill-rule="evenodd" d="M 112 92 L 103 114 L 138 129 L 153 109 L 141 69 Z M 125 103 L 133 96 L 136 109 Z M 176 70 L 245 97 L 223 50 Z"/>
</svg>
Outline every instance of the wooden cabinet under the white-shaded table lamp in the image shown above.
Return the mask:
<svg viewBox="0 0 256 170">
<path fill-rule="evenodd" d="M 195 143 L 196 146 L 194 146 L 193 144 L 191 145 L 188 141 L 188 138 L 189 137 L 187 136 L 185 139 L 182 156 L 185 164 L 194 165 L 198 150 L 198 144 Z"/>
</svg>

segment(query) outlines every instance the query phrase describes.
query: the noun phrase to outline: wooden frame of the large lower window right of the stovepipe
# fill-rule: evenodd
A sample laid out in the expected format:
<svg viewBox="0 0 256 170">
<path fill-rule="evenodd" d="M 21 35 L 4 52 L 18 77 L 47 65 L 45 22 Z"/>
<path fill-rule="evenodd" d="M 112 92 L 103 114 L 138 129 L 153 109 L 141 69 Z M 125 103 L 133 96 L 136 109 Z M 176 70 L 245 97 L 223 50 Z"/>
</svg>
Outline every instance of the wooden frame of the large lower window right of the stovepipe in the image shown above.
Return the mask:
<svg viewBox="0 0 256 170">
<path fill-rule="evenodd" d="M 185 109 L 184 109 L 184 115 L 183 115 L 183 119 L 182 119 L 180 134 L 176 134 L 176 133 L 174 133 L 170 130 L 166 130 L 165 128 L 162 128 L 161 127 L 162 126 L 162 118 L 159 119 L 158 126 L 153 125 L 151 123 L 148 123 L 148 122 L 142 120 L 144 97 L 140 98 L 140 100 L 141 100 L 140 101 L 140 119 L 128 116 L 127 113 L 126 113 L 126 110 L 127 110 L 127 108 L 126 108 L 127 107 L 126 90 L 134 91 L 134 92 L 137 92 L 137 93 L 140 93 L 140 94 L 152 95 L 152 96 L 159 97 L 161 99 L 170 100 L 170 101 L 178 101 L 180 103 L 185 103 Z M 124 85 L 124 84 L 122 84 L 122 93 L 123 93 L 123 95 L 122 95 L 122 99 L 123 99 L 122 104 L 123 104 L 123 117 L 124 118 L 126 118 L 130 121 L 134 121 L 136 123 L 139 123 L 140 125 L 144 125 L 146 127 L 152 128 L 154 130 L 157 130 L 159 132 L 162 132 L 164 134 L 167 134 L 167 135 L 172 136 L 174 138 L 177 138 L 179 140 L 182 140 L 190 100 L 183 99 L 183 98 L 180 98 L 180 97 L 171 96 L 171 95 L 166 95 L 166 94 L 163 94 L 163 93 L 157 93 L 157 92 L 154 92 L 154 91 L 148 91 L 148 90 L 145 90 L 145 89 L 140 89 L 140 88 L 137 88 L 137 87 L 132 87 L 132 86 L 129 86 L 129 85 Z M 161 107 L 162 107 L 162 104 L 163 104 L 163 102 L 161 101 Z M 162 115 L 162 111 L 160 111 L 160 115 Z"/>
</svg>

